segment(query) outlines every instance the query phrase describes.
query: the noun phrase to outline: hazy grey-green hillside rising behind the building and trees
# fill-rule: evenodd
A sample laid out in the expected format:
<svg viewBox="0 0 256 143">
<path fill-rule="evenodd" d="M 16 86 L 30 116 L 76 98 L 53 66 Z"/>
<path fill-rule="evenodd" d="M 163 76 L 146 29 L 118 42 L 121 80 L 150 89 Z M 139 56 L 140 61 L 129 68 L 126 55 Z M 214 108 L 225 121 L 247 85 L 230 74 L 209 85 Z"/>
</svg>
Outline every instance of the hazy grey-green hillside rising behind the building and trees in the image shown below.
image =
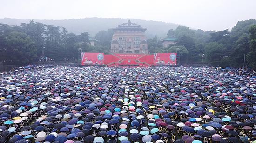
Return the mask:
<svg viewBox="0 0 256 143">
<path fill-rule="evenodd" d="M 0 23 L 8 25 L 20 25 L 20 23 L 28 23 L 31 19 L 0 19 Z M 147 38 L 152 38 L 157 35 L 160 38 L 166 37 L 169 29 L 176 29 L 178 26 L 174 23 L 166 23 L 152 20 L 130 19 L 132 23 L 141 25 L 143 28 L 147 28 Z M 115 28 L 117 25 L 126 23 L 128 19 L 121 18 L 84 18 L 84 19 L 63 19 L 63 20 L 37 20 L 46 25 L 62 26 L 67 28 L 67 31 L 75 34 L 81 32 L 89 32 L 91 37 L 94 37 L 98 31 L 108 30 L 109 28 Z"/>
</svg>

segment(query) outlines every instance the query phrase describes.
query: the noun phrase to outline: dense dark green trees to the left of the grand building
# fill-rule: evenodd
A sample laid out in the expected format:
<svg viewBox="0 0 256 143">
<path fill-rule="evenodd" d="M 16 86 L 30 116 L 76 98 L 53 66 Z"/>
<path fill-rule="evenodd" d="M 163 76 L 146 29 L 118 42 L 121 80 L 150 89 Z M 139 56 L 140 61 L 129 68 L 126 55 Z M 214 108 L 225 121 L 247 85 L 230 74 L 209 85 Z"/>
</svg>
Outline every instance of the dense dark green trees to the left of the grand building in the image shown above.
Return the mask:
<svg viewBox="0 0 256 143">
<path fill-rule="evenodd" d="M 101 51 L 89 43 L 88 32 L 76 35 L 65 27 L 44 25 L 33 20 L 19 26 L 0 23 L 0 62 L 4 64 L 75 60 L 81 57 L 81 52 Z"/>
</svg>

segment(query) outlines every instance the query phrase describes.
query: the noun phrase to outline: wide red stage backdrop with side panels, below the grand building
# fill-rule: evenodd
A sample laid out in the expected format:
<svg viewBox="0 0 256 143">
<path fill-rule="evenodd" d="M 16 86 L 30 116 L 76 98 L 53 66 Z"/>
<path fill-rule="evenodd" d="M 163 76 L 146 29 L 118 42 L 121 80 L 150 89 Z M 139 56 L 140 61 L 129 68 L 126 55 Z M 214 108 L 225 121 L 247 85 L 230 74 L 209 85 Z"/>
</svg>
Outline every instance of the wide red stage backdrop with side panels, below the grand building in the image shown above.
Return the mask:
<svg viewBox="0 0 256 143">
<path fill-rule="evenodd" d="M 81 53 L 83 66 L 176 66 L 177 53 Z"/>
</svg>

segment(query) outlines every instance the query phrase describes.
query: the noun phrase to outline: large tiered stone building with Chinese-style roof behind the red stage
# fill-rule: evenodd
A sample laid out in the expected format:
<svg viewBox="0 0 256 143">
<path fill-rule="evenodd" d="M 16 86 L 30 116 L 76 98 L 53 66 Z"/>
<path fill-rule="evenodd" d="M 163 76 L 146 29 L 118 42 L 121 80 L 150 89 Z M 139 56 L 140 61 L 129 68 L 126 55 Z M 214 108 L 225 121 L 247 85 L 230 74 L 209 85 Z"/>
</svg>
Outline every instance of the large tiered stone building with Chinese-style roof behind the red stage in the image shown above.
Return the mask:
<svg viewBox="0 0 256 143">
<path fill-rule="evenodd" d="M 148 53 L 148 44 L 146 41 L 145 31 L 141 25 L 127 23 L 118 25 L 114 29 L 111 41 L 111 53 Z"/>
</svg>

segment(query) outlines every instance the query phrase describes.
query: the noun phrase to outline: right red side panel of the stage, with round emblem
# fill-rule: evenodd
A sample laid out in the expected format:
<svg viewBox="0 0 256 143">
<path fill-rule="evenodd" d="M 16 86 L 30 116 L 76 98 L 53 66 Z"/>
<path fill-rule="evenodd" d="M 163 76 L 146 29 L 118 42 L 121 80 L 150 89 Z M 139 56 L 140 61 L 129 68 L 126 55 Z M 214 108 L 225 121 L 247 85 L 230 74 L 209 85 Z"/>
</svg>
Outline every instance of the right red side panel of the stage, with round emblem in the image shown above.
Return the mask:
<svg viewBox="0 0 256 143">
<path fill-rule="evenodd" d="M 155 53 L 154 65 L 176 65 L 177 53 Z"/>
</svg>

